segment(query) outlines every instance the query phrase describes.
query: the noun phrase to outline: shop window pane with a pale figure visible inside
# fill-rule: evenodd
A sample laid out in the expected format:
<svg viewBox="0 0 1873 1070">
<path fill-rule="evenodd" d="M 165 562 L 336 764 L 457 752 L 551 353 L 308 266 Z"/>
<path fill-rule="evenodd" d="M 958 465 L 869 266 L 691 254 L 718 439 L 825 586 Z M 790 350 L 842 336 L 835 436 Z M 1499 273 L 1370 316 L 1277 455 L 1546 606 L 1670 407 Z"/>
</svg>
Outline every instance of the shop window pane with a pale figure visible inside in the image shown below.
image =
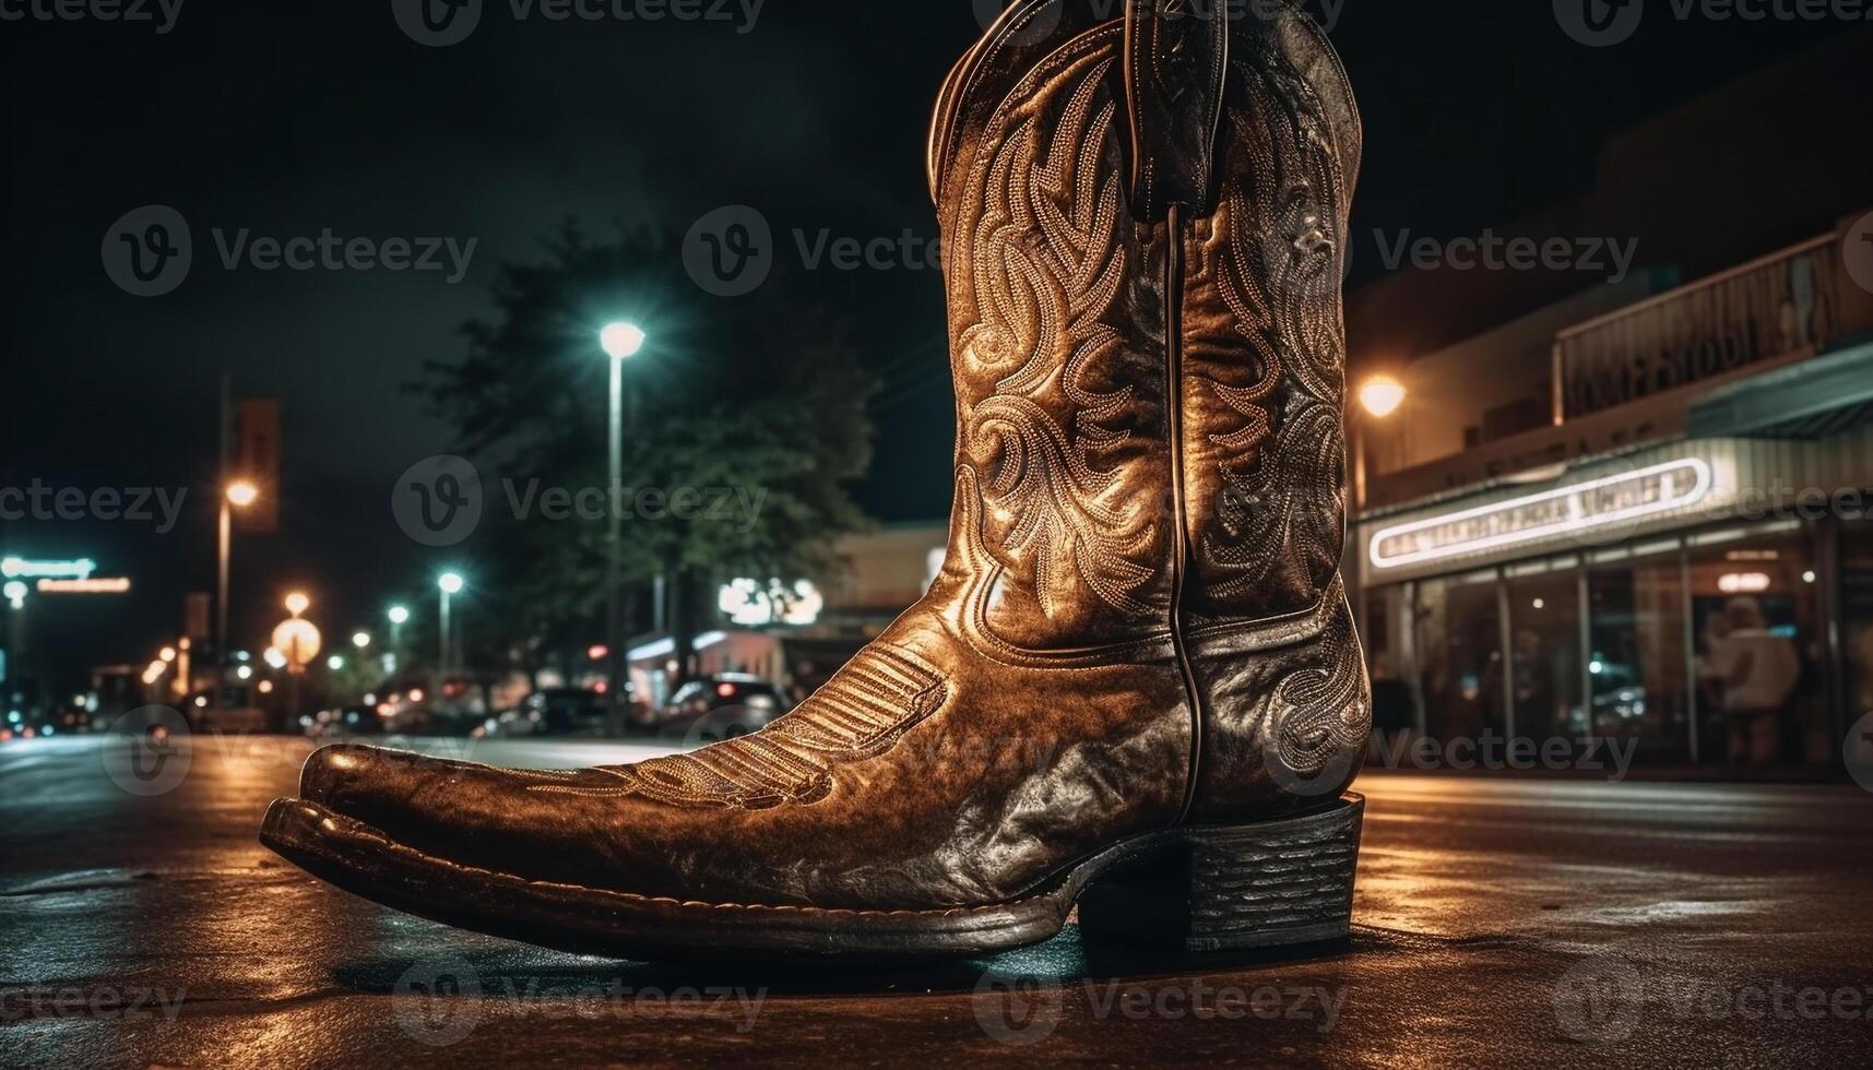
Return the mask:
<svg viewBox="0 0 1873 1070">
<path fill-rule="evenodd" d="M 1704 761 L 1828 761 L 1815 568 L 1809 532 L 1787 525 L 1691 540 Z"/>
</svg>

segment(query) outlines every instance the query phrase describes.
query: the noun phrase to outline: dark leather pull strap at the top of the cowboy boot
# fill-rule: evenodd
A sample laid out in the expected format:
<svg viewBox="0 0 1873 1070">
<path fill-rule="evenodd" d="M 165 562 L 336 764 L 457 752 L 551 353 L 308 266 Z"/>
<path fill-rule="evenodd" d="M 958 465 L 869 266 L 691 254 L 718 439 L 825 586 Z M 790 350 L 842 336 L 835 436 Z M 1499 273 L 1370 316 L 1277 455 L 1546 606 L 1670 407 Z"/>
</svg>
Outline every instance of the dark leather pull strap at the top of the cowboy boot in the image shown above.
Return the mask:
<svg viewBox="0 0 1873 1070">
<path fill-rule="evenodd" d="M 1217 0 L 1126 2 L 1126 107 L 1131 120 L 1131 212 L 1171 204 L 1208 215 L 1229 71 L 1229 6 Z"/>
</svg>

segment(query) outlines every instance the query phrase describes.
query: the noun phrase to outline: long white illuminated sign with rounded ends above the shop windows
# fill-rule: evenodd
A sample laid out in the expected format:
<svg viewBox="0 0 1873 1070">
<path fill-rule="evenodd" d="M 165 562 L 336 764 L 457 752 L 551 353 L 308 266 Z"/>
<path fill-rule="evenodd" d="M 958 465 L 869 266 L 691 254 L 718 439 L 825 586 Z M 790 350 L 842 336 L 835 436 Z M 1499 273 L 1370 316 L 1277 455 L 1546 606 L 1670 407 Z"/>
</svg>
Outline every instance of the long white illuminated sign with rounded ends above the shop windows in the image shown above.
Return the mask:
<svg viewBox="0 0 1873 1070">
<path fill-rule="evenodd" d="M 1380 528 L 1373 532 L 1369 557 L 1375 568 L 1401 568 L 1560 536 L 1605 534 L 1603 528 L 1613 525 L 1631 525 L 1695 506 L 1710 493 L 1710 485 L 1712 470 L 1706 461 L 1669 461 L 1637 472 Z"/>
</svg>

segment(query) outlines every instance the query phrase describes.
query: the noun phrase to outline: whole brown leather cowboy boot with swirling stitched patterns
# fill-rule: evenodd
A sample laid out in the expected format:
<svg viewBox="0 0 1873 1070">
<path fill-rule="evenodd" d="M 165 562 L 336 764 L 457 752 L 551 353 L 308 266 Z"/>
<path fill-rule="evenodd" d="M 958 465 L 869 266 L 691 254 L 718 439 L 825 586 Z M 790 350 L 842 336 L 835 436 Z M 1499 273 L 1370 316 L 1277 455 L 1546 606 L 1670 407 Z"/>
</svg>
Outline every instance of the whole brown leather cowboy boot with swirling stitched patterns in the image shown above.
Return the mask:
<svg viewBox="0 0 1873 1070">
<path fill-rule="evenodd" d="M 959 412 L 929 592 L 766 729 L 637 765 L 337 746 L 260 840 L 575 952 L 1343 937 L 1369 733 L 1337 581 L 1358 120 L 1281 7 L 1023 0 L 929 148 Z M 1225 11 L 1231 6 L 1214 6 Z"/>
</svg>

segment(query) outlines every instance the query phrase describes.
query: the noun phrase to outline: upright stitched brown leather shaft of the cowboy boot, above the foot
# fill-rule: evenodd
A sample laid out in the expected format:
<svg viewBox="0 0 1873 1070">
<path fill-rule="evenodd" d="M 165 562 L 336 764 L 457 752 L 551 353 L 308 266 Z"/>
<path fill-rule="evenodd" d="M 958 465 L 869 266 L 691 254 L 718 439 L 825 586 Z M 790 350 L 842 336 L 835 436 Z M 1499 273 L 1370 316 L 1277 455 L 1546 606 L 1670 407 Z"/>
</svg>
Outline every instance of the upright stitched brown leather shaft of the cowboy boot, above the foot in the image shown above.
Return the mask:
<svg viewBox="0 0 1873 1070">
<path fill-rule="evenodd" d="M 944 84 L 931 187 L 976 498 L 953 536 L 996 572 L 993 641 L 1105 648 L 1334 587 L 1358 114 L 1309 19 L 1234 7 L 1030 0 Z"/>
</svg>

